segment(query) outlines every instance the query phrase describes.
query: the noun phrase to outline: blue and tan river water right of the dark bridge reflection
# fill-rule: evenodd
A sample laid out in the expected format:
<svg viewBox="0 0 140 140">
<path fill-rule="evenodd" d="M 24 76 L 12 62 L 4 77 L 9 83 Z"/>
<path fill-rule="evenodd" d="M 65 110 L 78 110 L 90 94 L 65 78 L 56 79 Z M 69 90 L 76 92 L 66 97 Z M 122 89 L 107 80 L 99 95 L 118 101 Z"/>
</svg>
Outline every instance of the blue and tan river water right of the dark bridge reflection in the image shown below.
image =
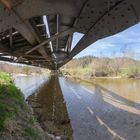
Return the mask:
<svg viewBox="0 0 140 140">
<path fill-rule="evenodd" d="M 74 139 L 140 140 L 140 81 L 102 79 L 90 82 L 66 79 L 61 82 L 75 92 L 75 97 L 65 92 L 65 99 L 77 98 L 77 104 L 68 105 Z"/>
</svg>

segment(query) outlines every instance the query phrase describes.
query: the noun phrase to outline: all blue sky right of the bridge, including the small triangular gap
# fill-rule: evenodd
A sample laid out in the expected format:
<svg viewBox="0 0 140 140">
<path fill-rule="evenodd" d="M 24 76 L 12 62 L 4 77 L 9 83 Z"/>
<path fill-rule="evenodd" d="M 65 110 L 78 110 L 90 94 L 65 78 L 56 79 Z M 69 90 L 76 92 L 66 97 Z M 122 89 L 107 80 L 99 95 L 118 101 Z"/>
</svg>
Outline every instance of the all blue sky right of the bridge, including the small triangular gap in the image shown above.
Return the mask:
<svg viewBox="0 0 140 140">
<path fill-rule="evenodd" d="M 81 37 L 82 34 L 74 34 L 73 47 Z M 140 23 L 121 33 L 96 41 L 76 57 L 86 55 L 121 57 L 126 54 L 140 60 Z"/>
</svg>

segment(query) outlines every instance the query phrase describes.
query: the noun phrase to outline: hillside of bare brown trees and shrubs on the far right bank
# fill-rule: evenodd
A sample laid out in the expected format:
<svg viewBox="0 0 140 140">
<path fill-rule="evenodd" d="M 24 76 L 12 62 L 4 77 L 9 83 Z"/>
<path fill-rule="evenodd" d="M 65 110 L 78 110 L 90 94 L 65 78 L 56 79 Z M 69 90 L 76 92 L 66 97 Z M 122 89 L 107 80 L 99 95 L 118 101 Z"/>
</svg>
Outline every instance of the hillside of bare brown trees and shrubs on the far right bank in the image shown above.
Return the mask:
<svg viewBox="0 0 140 140">
<path fill-rule="evenodd" d="M 98 58 L 86 56 L 73 59 L 62 67 L 64 75 L 73 77 L 140 77 L 140 61 L 130 58 Z"/>
</svg>

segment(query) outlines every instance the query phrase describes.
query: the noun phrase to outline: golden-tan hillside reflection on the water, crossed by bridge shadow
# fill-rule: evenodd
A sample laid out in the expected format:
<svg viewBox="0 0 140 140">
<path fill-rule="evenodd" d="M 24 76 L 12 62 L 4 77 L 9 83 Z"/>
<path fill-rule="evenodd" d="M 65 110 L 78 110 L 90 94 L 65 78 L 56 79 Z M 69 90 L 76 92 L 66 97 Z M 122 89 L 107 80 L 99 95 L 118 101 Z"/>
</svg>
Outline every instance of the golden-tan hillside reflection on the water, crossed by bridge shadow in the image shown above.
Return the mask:
<svg viewBox="0 0 140 140">
<path fill-rule="evenodd" d="M 92 91 L 103 96 L 104 101 L 113 103 L 118 102 L 126 106 L 123 108 L 134 107 L 137 111 L 134 113 L 140 114 L 140 80 L 136 79 L 94 79 L 90 83 L 83 82 L 84 86 Z M 98 92 L 99 90 L 99 92 Z M 114 99 L 115 98 L 115 99 Z M 114 104 L 115 105 L 115 104 Z M 117 107 L 119 104 L 117 104 Z M 129 108 L 127 108 L 129 109 Z M 129 111 L 133 111 L 130 108 Z"/>
</svg>

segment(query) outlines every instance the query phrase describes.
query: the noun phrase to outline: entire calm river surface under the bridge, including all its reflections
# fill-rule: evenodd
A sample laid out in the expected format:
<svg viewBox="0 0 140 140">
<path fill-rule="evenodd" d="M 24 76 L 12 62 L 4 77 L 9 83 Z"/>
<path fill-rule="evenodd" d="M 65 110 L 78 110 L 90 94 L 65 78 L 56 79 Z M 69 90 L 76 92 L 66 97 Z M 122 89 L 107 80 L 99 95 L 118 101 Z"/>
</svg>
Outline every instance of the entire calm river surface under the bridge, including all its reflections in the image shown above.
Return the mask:
<svg viewBox="0 0 140 140">
<path fill-rule="evenodd" d="M 140 140 L 140 80 L 17 77 L 44 131 L 64 140 Z"/>
</svg>

